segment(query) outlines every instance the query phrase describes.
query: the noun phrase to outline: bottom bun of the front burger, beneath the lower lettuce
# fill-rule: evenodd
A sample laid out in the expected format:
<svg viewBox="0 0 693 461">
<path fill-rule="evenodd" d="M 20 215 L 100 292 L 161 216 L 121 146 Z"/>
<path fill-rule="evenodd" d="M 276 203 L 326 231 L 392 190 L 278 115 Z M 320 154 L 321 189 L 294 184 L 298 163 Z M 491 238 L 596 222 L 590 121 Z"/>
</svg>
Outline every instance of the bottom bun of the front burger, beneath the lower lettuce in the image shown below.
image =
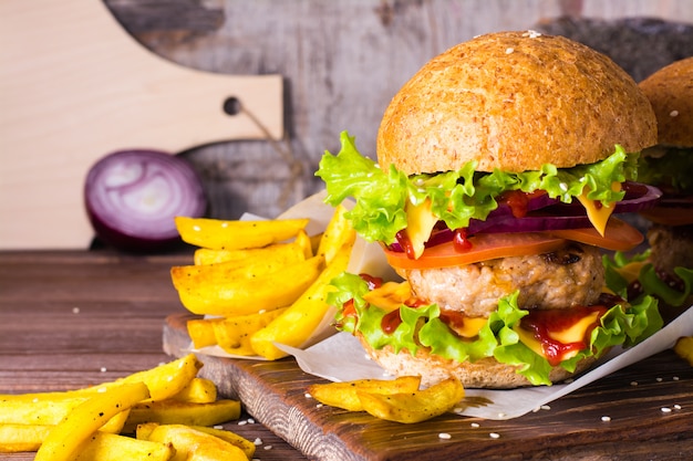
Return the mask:
<svg viewBox="0 0 693 461">
<path fill-rule="evenodd" d="M 415 356 L 407 350 L 395 354 L 392 346 L 373 349 L 359 335 L 359 339 L 366 353 L 386 373 L 393 376 L 421 376 L 423 387 L 432 386 L 451 376 L 456 377 L 466 388 L 513 389 L 532 386 L 523 375 L 517 373 L 516 366 L 497 362 L 493 357 L 482 358 L 474 363 L 459 363 L 428 354 L 420 348 Z M 549 374 L 551 383 L 559 383 L 591 367 L 597 358 L 588 357 L 580 360 L 573 373 L 561 367 L 554 367 Z"/>
</svg>

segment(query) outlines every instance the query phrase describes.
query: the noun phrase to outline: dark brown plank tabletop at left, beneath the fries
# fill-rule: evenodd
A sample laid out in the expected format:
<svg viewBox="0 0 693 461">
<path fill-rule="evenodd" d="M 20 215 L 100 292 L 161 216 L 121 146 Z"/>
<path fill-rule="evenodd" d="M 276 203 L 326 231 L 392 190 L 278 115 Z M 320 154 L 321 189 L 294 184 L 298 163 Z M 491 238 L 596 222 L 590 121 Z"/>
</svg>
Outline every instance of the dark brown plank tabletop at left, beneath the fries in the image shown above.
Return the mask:
<svg viewBox="0 0 693 461">
<path fill-rule="evenodd" d="M 81 388 L 172 360 L 162 348 L 164 322 L 185 310 L 168 271 L 190 261 L 192 253 L 0 252 L 0 394 Z M 224 427 L 260 439 L 256 459 L 307 459 L 246 421 Z"/>
</svg>

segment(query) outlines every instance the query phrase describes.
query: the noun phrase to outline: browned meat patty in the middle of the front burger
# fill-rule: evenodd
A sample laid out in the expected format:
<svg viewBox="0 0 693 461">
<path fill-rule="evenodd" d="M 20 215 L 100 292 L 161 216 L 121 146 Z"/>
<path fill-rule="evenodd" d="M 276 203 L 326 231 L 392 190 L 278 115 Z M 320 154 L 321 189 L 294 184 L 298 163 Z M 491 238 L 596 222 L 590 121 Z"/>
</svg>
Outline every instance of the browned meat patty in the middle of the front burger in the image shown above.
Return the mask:
<svg viewBox="0 0 693 461">
<path fill-rule="evenodd" d="M 551 253 L 401 275 L 418 298 L 473 317 L 487 317 L 498 307 L 498 298 L 516 290 L 521 308 L 568 308 L 594 304 L 604 286 L 601 253 L 579 243 Z"/>
</svg>

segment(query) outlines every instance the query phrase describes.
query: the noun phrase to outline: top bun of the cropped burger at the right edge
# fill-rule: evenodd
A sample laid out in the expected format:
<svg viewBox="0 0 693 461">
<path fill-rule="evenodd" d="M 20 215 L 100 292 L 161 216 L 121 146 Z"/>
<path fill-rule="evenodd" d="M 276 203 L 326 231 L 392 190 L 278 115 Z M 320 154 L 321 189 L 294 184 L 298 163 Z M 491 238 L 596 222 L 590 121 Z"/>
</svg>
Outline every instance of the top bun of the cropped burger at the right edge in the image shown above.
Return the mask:
<svg viewBox="0 0 693 461">
<path fill-rule="evenodd" d="M 693 147 L 693 57 L 660 69 L 640 88 L 652 103 L 659 144 Z"/>
</svg>

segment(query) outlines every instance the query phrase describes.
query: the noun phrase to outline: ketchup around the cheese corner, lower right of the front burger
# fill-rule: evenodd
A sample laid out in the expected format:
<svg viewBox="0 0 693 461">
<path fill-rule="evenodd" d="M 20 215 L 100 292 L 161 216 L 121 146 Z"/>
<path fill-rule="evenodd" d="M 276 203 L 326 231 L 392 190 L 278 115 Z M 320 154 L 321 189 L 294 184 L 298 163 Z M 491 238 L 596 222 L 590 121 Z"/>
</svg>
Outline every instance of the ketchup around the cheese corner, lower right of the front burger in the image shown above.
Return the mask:
<svg viewBox="0 0 693 461">
<path fill-rule="evenodd" d="M 586 329 L 581 340 L 563 344 L 552 339 L 549 332 L 560 332 L 576 324 L 593 312 L 599 312 L 597 319 Z M 582 350 L 587 347 L 592 329 L 599 325 L 599 319 L 607 312 L 603 305 L 576 306 L 565 310 L 530 311 L 520 321 L 520 327 L 531 332 L 534 337 L 541 343 L 544 355 L 551 366 L 560 364 L 562 357 L 570 352 Z"/>
</svg>

